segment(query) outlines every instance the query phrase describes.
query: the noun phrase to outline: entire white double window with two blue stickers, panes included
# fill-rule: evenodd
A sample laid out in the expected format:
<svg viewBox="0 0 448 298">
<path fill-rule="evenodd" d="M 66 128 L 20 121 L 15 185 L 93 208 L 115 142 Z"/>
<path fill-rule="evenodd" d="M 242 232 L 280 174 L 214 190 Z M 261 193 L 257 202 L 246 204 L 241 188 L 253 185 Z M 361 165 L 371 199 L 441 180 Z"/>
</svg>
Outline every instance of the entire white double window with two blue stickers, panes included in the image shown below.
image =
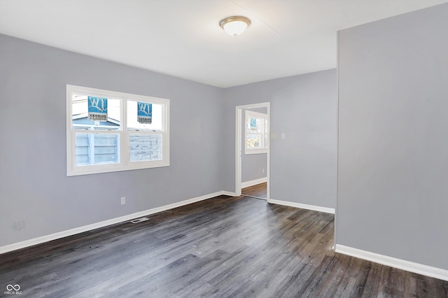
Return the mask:
<svg viewBox="0 0 448 298">
<path fill-rule="evenodd" d="M 169 166 L 169 99 L 67 85 L 67 176 Z"/>
</svg>

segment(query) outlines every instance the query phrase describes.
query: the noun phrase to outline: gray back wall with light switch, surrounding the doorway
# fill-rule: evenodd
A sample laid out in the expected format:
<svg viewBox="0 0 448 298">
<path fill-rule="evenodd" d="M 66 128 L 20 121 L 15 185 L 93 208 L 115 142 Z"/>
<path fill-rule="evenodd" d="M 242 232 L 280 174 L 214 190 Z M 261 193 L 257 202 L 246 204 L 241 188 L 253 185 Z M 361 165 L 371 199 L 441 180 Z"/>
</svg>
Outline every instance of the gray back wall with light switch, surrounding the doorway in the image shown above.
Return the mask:
<svg viewBox="0 0 448 298">
<path fill-rule="evenodd" d="M 336 70 L 267 80 L 225 90 L 228 122 L 235 106 L 271 103 L 271 198 L 335 208 L 337 172 Z M 286 139 L 280 139 L 285 132 Z M 226 160 L 235 160 L 235 132 L 225 132 Z M 235 191 L 235 163 L 225 165 L 225 190 Z"/>
</svg>

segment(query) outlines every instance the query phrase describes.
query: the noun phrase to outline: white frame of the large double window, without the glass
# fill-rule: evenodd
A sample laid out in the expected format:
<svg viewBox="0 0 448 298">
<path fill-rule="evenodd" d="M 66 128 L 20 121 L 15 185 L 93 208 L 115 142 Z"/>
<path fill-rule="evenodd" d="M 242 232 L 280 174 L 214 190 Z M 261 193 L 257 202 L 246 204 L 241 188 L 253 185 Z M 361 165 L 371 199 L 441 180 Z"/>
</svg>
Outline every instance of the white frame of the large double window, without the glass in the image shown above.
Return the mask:
<svg viewBox="0 0 448 298">
<path fill-rule="evenodd" d="M 89 134 L 118 134 L 119 138 L 119 162 L 116 164 L 94 164 L 76 166 L 76 132 L 82 129 L 73 129 L 72 124 L 72 96 L 73 94 L 85 94 L 88 96 L 120 99 L 120 129 L 113 131 L 89 131 Z M 143 101 L 153 104 L 162 104 L 162 130 L 146 131 L 148 134 L 162 134 L 162 159 L 155 161 L 130 162 L 129 136 L 140 133 L 137 129 L 127 129 L 127 101 Z M 150 169 L 161 166 L 169 166 L 169 99 L 146 97 L 143 95 L 129 94 L 101 90 L 76 85 L 66 85 L 66 175 L 78 176 L 93 173 L 109 173 L 115 171 L 129 171 L 136 169 Z"/>
</svg>

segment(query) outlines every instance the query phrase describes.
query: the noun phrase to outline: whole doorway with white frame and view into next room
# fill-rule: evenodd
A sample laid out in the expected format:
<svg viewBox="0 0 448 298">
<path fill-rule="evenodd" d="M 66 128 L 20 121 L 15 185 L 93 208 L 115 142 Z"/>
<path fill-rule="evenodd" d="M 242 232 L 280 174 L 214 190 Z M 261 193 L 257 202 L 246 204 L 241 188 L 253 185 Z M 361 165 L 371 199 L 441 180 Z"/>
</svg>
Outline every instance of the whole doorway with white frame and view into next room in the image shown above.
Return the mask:
<svg viewBox="0 0 448 298">
<path fill-rule="evenodd" d="M 261 111 L 265 116 L 257 115 L 255 111 Z M 235 119 L 235 194 L 269 202 L 270 103 L 237 106 Z M 242 168 L 249 158 L 262 159 L 262 166 L 255 166 L 253 170 L 261 177 L 247 178 L 246 172 L 243 177 Z"/>
</svg>

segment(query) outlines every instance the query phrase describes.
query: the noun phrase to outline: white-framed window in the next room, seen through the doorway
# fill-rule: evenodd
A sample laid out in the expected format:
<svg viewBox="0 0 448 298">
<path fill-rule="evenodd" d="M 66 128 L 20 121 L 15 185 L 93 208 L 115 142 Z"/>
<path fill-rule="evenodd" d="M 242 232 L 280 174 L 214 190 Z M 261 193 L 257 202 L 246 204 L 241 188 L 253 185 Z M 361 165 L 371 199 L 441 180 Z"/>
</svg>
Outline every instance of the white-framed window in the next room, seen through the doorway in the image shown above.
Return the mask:
<svg viewBox="0 0 448 298">
<path fill-rule="evenodd" d="M 246 154 L 267 153 L 267 114 L 246 110 Z"/>
</svg>

